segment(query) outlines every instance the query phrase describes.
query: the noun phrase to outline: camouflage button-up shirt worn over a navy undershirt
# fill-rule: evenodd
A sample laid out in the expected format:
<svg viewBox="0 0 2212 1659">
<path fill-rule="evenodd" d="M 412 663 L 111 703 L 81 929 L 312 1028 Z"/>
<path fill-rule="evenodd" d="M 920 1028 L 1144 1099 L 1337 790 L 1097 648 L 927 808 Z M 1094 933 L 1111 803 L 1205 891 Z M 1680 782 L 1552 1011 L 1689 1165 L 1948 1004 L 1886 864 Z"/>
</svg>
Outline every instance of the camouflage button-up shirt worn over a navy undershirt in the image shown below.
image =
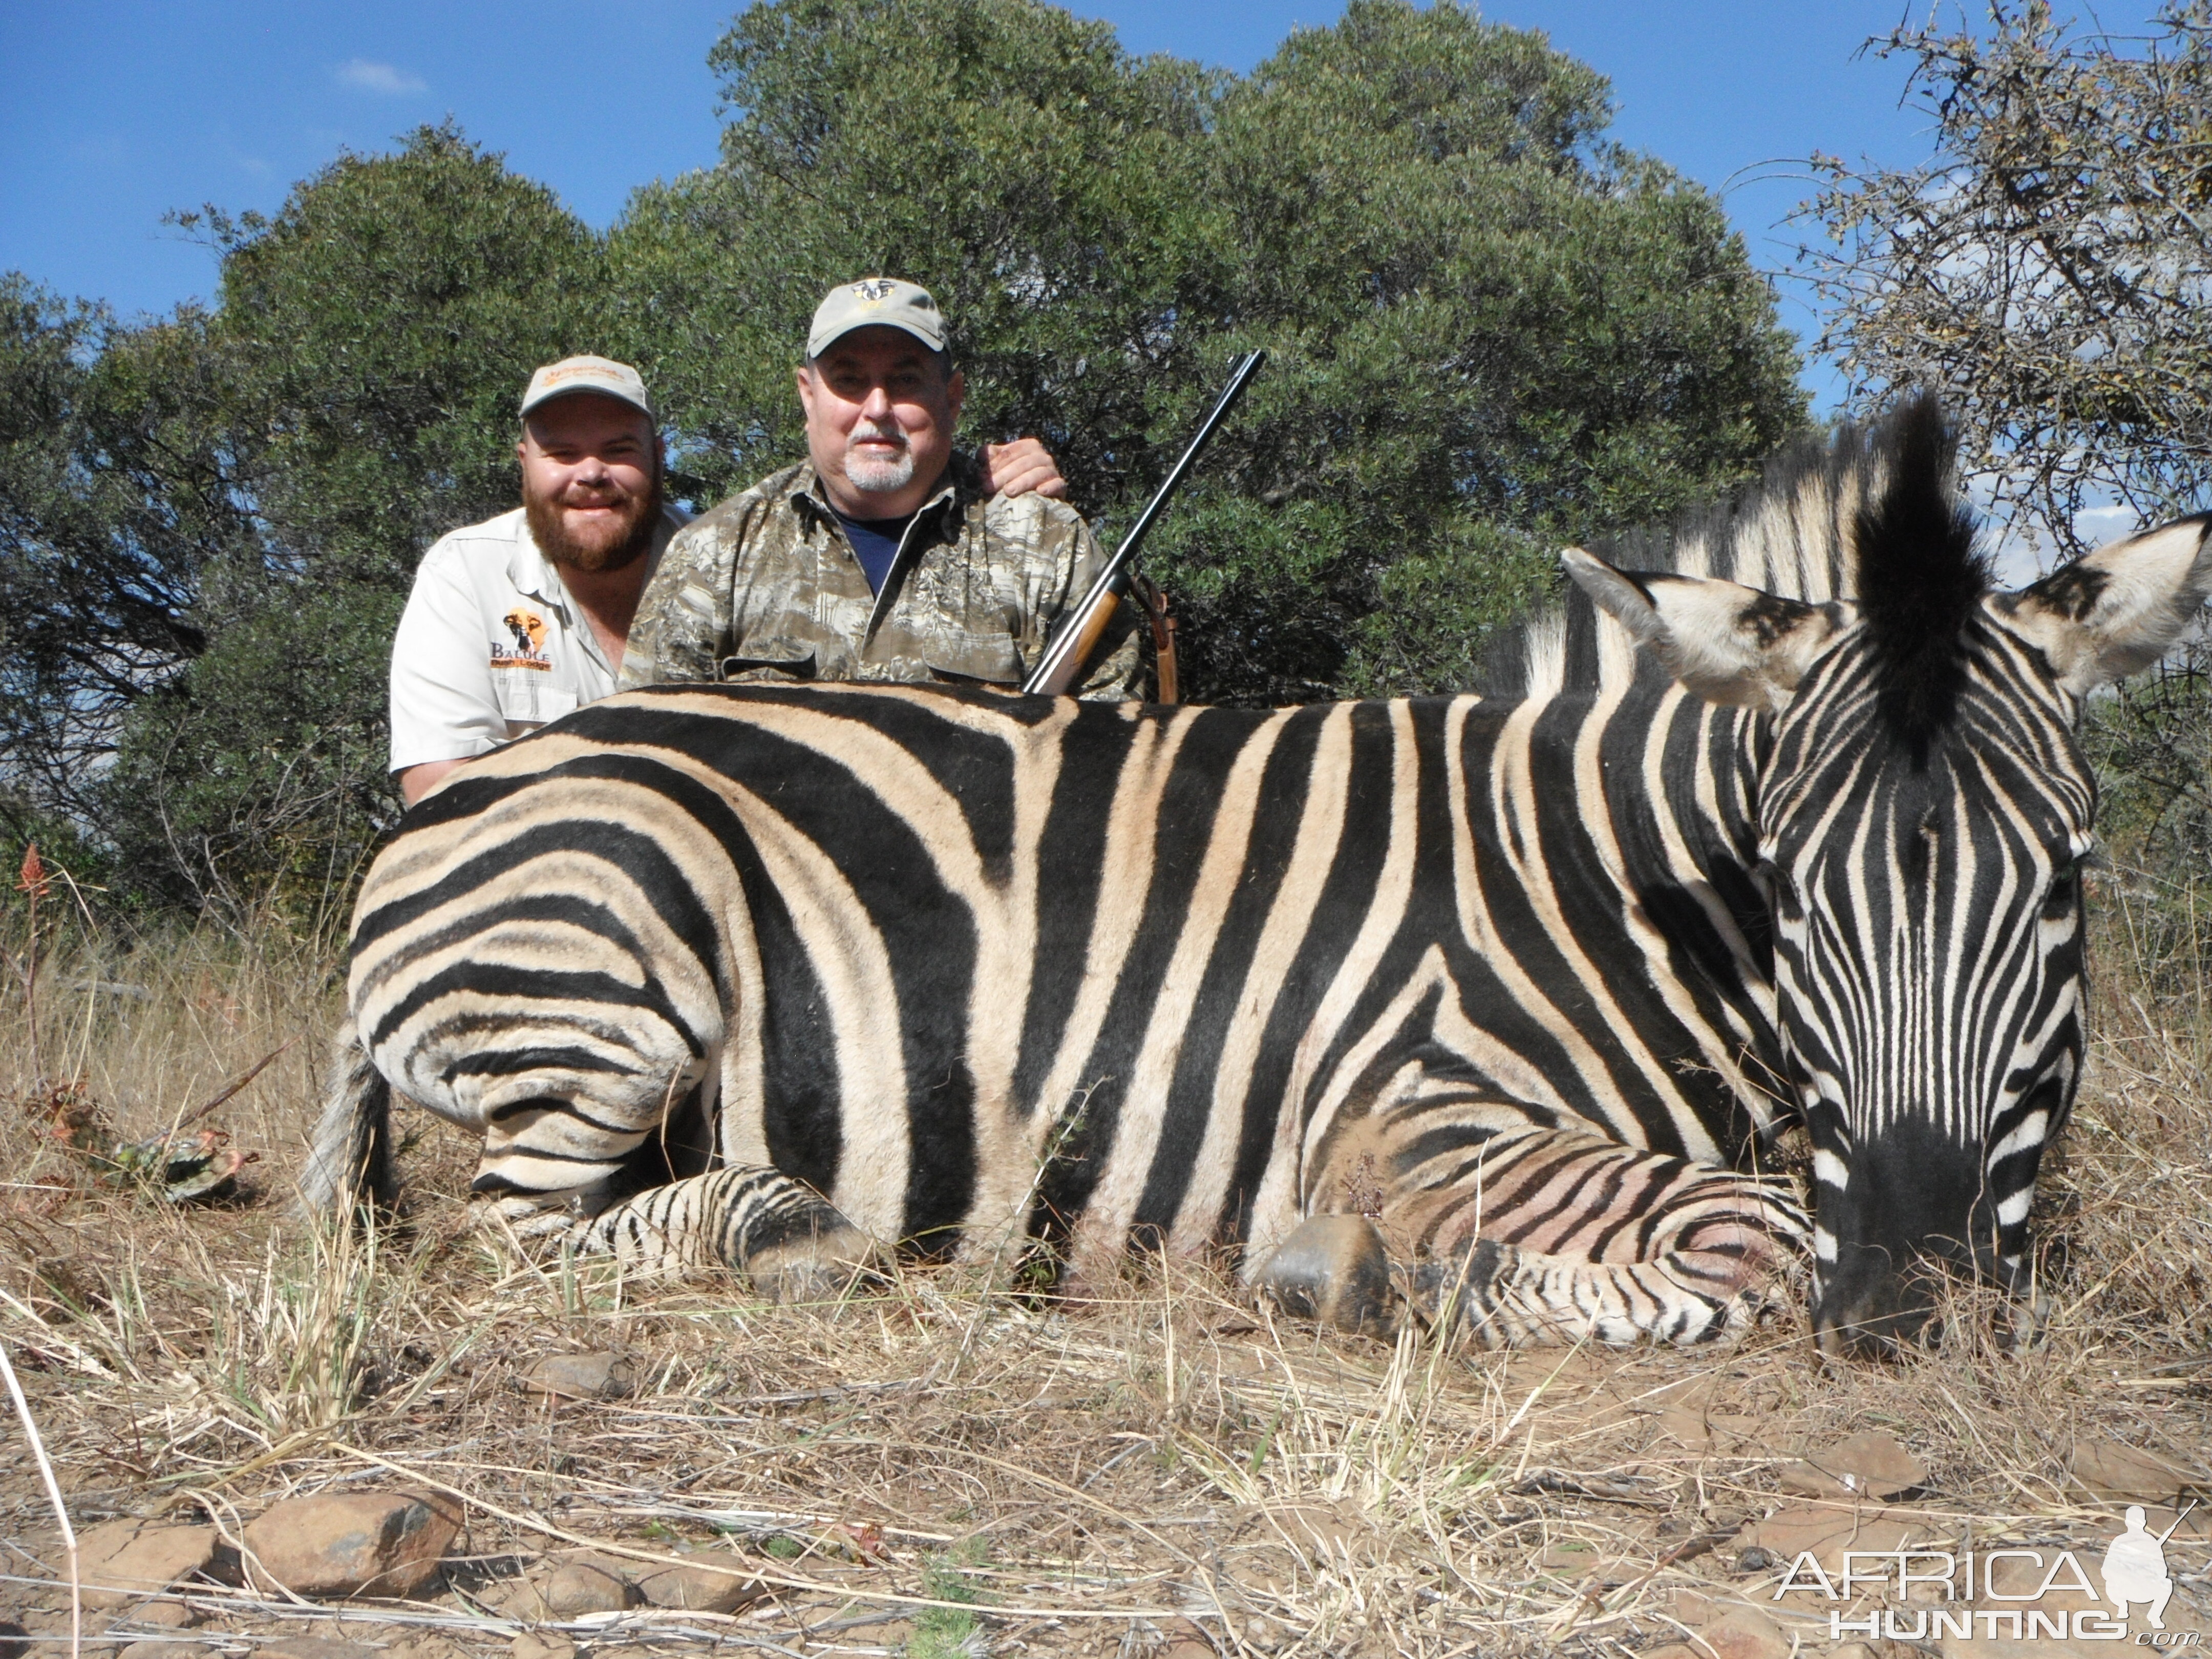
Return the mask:
<svg viewBox="0 0 2212 1659">
<path fill-rule="evenodd" d="M 1015 688 L 1102 555 L 1082 515 L 1044 495 L 982 495 L 956 456 L 898 544 L 880 593 L 812 465 L 701 513 L 646 584 L 622 688 L 681 679 L 905 679 Z M 1146 695 L 1135 606 L 1082 697 Z"/>
</svg>

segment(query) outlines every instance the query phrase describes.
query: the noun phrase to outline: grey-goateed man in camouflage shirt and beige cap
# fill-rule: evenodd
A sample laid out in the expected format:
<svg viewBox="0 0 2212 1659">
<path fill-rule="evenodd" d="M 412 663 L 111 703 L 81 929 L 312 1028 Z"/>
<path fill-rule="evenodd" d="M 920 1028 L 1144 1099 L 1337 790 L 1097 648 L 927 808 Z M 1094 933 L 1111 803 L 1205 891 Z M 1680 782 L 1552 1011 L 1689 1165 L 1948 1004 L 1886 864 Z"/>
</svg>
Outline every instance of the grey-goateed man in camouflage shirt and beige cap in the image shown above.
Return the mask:
<svg viewBox="0 0 2212 1659">
<path fill-rule="evenodd" d="M 1104 555 L 1057 500 L 987 500 L 982 469 L 953 449 L 962 392 L 925 290 L 832 290 L 799 369 L 810 460 L 677 533 L 630 624 L 622 686 L 1020 686 Z M 1126 602 L 1108 646 L 1079 695 L 1144 697 Z"/>
</svg>

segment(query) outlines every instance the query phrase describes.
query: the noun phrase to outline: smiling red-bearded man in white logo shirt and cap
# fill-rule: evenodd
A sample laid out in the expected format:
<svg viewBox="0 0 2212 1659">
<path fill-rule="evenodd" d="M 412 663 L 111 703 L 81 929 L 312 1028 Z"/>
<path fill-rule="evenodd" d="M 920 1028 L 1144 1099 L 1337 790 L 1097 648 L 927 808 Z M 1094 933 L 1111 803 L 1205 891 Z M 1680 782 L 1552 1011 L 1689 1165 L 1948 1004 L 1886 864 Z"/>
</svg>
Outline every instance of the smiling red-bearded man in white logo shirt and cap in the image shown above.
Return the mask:
<svg viewBox="0 0 2212 1659">
<path fill-rule="evenodd" d="M 686 515 L 628 363 L 571 356 L 522 394 L 522 507 L 440 538 L 392 641 L 392 772 L 414 805 L 462 761 L 608 697 L 639 595 Z M 1066 489 L 1035 438 L 991 445 L 984 489 Z"/>
</svg>

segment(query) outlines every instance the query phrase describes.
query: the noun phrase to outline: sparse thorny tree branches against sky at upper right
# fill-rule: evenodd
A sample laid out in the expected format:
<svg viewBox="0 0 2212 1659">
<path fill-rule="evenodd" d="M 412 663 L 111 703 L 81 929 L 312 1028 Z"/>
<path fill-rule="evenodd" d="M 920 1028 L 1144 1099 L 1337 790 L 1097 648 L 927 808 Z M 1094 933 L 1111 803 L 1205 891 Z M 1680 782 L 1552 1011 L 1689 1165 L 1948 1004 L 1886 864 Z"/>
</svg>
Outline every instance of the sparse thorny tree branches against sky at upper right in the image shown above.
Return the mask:
<svg viewBox="0 0 2212 1659">
<path fill-rule="evenodd" d="M 1936 122 L 1924 166 L 1829 164 L 1816 274 L 1863 396 L 1933 385 L 2002 511 L 2079 551 L 2084 509 L 2212 493 L 2212 0 L 2148 38 L 2042 0 L 1984 35 L 1900 29 Z"/>
</svg>

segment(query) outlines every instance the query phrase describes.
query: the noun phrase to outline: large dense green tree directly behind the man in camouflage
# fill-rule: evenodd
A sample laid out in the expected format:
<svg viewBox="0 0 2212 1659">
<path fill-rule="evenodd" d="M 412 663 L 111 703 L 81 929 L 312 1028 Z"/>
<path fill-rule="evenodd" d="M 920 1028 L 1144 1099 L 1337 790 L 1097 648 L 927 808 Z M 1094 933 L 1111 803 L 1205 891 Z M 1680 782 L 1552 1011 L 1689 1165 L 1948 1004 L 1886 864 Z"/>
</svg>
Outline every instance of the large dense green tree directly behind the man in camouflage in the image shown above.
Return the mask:
<svg viewBox="0 0 2212 1659">
<path fill-rule="evenodd" d="M 1604 142 L 1601 77 L 1455 4 L 1356 0 L 1243 82 L 1031 0 L 754 4 L 712 62 L 723 164 L 611 250 L 688 471 L 799 453 L 796 341 L 860 272 L 938 292 L 969 431 L 1042 434 L 1108 522 L 1263 345 L 1150 555 L 1206 699 L 1464 686 L 1557 540 L 1805 416 L 1719 206 Z"/>
</svg>

